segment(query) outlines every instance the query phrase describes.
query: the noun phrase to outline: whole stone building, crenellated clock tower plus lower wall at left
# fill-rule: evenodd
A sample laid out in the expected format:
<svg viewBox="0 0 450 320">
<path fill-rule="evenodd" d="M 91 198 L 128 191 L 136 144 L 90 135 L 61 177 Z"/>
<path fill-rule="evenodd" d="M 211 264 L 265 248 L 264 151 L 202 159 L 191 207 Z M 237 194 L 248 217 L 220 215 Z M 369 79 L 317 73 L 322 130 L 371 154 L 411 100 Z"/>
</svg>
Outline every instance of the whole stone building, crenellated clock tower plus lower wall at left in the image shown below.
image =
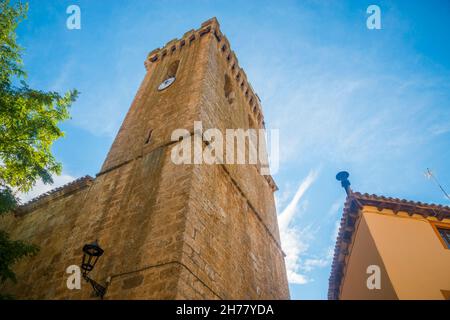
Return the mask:
<svg viewBox="0 0 450 320">
<path fill-rule="evenodd" d="M 288 299 L 270 176 L 258 165 L 176 165 L 175 129 L 263 128 L 259 98 L 215 18 L 152 51 L 147 74 L 96 178 L 56 189 L 1 220 L 40 253 L 17 265 L 18 298 L 91 298 L 66 286 L 81 247 L 105 299 Z M 165 80 L 175 81 L 167 88 Z M 169 80 L 168 82 L 170 82 Z M 167 81 L 166 81 L 167 82 Z"/>
</svg>

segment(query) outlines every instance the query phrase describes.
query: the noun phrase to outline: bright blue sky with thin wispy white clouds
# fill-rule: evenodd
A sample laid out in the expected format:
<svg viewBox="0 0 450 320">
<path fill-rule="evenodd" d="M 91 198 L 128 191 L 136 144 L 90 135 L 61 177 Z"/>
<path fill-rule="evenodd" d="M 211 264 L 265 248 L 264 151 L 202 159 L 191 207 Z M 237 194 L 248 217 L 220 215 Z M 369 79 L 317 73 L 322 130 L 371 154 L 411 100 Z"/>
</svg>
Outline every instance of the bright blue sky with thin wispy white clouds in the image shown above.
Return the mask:
<svg viewBox="0 0 450 320">
<path fill-rule="evenodd" d="M 66 28 L 72 4 L 81 30 Z M 370 4 L 381 30 L 366 28 Z M 338 171 L 357 191 L 450 205 L 423 174 L 430 167 L 450 190 L 450 3 L 31 0 L 18 30 L 29 83 L 81 91 L 54 146 L 64 166 L 55 186 L 99 171 L 147 53 L 212 16 L 268 127 L 280 129 L 274 178 L 291 296 L 326 299 L 344 202 Z"/>
</svg>

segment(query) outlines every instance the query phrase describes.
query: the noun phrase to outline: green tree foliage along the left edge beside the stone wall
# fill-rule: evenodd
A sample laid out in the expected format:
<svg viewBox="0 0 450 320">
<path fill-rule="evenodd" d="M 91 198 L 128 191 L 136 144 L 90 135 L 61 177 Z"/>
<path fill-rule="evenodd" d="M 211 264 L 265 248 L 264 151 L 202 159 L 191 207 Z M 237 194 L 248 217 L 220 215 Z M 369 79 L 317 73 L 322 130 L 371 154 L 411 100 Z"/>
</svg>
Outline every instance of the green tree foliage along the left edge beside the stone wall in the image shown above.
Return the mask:
<svg viewBox="0 0 450 320">
<path fill-rule="evenodd" d="M 52 183 L 52 175 L 61 173 L 51 146 L 63 136 L 58 124 L 69 118 L 78 95 L 76 90 L 44 92 L 25 82 L 16 29 L 27 10 L 27 4 L 0 0 L 0 215 L 18 205 L 17 192 L 29 191 L 39 180 Z M 15 281 L 11 267 L 36 252 L 36 246 L 0 231 L 0 283 Z"/>
</svg>

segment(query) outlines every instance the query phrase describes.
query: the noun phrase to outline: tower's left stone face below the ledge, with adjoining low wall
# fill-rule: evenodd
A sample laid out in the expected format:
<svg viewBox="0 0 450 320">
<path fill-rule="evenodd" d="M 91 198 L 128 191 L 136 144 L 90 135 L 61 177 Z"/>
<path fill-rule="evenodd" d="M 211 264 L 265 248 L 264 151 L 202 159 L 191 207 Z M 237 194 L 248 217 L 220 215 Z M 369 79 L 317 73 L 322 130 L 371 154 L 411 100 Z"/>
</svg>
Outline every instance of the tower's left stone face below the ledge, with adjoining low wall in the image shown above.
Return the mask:
<svg viewBox="0 0 450 320">
<path fill-rule="evenodd" d="M 175 298 L 192 170 L 173 165 L 168 152 L 156 149 L 98 176 L 78 193 L 21 217 L 5 217 L 2 225 L 13 238 L 36 243 L 41 251 L 15 267 L 18 284 L 7 283 L 1 292 L 90 298 L 86 283 L 80 291 L 67 289 L 65 270 L 80 264 L 85 243 L 98 239 L 105 253 L 92 277 L 99 282 L 112 277 L 106 298 Z"/>
</svg>

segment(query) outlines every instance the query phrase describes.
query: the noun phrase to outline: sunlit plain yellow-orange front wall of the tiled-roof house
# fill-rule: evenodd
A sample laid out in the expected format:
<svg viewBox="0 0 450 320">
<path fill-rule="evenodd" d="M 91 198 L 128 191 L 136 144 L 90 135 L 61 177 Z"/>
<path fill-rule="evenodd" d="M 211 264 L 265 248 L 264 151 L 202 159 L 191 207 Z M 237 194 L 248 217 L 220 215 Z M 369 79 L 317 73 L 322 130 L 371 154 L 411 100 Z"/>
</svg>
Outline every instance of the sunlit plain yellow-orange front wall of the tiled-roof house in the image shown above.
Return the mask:
<svg viewBox="0 0 450 320">
<path fill-rule="evenodd" d="M 363 220 L 399 299 L 445 299 L 443 292 L 450 290 L 450 250 L 433 229 L 432 219 L 363 209 Z M 450 220 L 441 223 L 450 225 Z"/>
</svg>

